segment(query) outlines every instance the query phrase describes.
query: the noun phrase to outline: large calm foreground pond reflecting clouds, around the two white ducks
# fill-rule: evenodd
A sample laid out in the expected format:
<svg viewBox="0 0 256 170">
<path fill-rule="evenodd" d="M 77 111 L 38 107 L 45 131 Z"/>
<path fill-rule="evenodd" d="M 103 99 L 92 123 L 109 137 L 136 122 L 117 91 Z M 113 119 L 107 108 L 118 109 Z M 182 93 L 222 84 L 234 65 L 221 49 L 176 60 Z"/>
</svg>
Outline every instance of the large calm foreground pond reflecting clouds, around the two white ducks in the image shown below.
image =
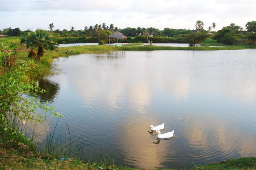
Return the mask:
<svg viewBox="0 0 256 170">
<path fill-rule="evenodd" d="M 88 152 L 138 168 L 177 168 L 256 156 L 256 50 L 118 51 L 55 60 L 39 81 L 64 114 L 59 130 L 85 134 Z M 165 123 L 171 140 L 150 125 Z M 55 120 L 45 131 L 53 130 Z"/>
</svg>

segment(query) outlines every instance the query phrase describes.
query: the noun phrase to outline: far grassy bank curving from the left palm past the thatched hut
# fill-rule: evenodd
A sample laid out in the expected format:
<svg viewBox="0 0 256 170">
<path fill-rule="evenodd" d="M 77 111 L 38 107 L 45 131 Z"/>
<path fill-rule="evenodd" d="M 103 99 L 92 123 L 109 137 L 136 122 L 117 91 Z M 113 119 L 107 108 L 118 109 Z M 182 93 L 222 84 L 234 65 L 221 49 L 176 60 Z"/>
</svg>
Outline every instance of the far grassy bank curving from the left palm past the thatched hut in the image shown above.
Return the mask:
<svg viewBox="0 0 256 170">
<path fill-rule="evenodd" d="M 22 47 L 23 48 L 23 47 Z M 108 45 L 90 45 L 90 46 L 73 46 L 73 47 L 60 47 L 59 52 L 46 51 L 41 61 L 38 63 L 31 63 L 31 71 L 26 73 L 30 79 L 38 79 L 44 77 L 46 74 L 53 74 L 50 70 L 52 67 L 53 58 L 61 56 L 70 56 L 83 53 L 95 52 L 110 52 L 110 51 L 153 51 L 153 50 L 191 50 L 191 51 L 210 51 L 210 50 L 242 50 L 242 49 L 256 49 L 256 46 L 226 46 L 226 47 L 170 47 L 170 46 L 150 46 L 140 43 L 128 44 L 127 46 L 108 46 Z M 66 51 L 68 53 L 65 53 Z M 31 58 L 27 57 L 28 51 L 20 51 L 16 58 L 16 65 L 11 68 L 0 67 L 0 75 L 5 71 L 10 71 L 16 66 L 24 63 L 30 63 Z"/>
</svg>

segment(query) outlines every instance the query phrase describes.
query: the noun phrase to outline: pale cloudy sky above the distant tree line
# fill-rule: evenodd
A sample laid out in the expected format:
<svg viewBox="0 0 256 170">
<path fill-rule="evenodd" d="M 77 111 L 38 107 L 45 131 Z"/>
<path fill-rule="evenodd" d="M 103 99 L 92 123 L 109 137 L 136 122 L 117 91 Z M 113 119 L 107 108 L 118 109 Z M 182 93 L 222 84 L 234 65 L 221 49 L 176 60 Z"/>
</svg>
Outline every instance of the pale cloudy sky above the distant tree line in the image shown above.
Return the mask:
<svg viewBox="0 0 256 170">
<path fill-rule="evenodd" d="M 54 23 L 54 29 L 79 30 L 103 22 L 118 28 L 194 29 L 202 20 L 205 27 L 215 22 L 218 30 L 230 23 L 245 27 L 256 20 L 255 9 L 256 0 L 0 0 L 0 29 L 48 29 Z"/>
</svg>

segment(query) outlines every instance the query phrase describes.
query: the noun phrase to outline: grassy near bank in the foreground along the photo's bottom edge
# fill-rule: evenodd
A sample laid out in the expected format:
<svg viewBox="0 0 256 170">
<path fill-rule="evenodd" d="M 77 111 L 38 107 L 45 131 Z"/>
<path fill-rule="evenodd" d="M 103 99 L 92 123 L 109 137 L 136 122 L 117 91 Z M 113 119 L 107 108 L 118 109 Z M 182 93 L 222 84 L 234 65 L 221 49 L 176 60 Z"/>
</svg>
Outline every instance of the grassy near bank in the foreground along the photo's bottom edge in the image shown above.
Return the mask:
<svg viewBox="0 0 256 170">
<path fill-rule="evenodd" d="M 0 145 L 0 169 L 21 169 L 21 170 L 41 170 L 41 169 L 62 169 L 62 170 L 138 170 L 135 168 L 115 166 L 113 164 L 83 163 L 76 159 L 60 161 L 60 158 L 46 158 L 40 153 L 33 152 L 20 143 L 17 149 Z M 157 169 L 157 168 L 156 168 Z M 247 157 L 240 159 L 228 159 L 225 162 L 210 165 L 196 166 L 191 170 L 255 170 L 256 158 Z M 171 170 L 171 169 L 166 169 Z"/>
</svg>

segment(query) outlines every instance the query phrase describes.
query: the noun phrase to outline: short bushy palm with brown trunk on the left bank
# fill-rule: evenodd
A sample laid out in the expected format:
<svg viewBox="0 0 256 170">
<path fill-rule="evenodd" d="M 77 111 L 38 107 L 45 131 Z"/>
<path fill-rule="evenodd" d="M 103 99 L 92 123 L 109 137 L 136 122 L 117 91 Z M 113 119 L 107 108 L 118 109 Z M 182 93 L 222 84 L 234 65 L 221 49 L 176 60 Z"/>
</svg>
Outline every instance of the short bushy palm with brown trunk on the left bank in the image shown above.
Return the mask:
<svg viewBox="0 0 256 170">
<path fill-rule="evenodd" d="M 37 29 L 35 32 L 24 33 L 20 38 L 21 44 L 26 44 L 27 48 L 31 51 L 37 49 L 36 61 L 40 61 L 44 54 L 44 50 L 55 51 L 57 49 L 58 43 L 51 40 L 51 35 L 42 29 Z"/>
</svg>

